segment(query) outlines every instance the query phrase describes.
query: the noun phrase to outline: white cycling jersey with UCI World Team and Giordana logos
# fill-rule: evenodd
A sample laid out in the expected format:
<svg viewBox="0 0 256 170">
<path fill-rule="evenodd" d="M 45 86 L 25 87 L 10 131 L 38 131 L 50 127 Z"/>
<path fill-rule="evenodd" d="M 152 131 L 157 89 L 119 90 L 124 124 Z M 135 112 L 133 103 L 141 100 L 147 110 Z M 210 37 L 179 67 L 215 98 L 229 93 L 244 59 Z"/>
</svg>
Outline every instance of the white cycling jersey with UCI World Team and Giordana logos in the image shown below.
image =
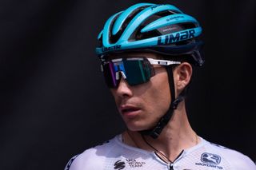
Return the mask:
<svg viewBox="0 0 256 170">
<path fill-rule="evenodd" d="M 256 170 L 248 156 L 200 139 L 199 144 L 183 150 L 174 162 L 166 163 L 154 152 L 122 143 L 122 136 L 118 135 L 74 156 L 65 170 Z"/>
</svg>

